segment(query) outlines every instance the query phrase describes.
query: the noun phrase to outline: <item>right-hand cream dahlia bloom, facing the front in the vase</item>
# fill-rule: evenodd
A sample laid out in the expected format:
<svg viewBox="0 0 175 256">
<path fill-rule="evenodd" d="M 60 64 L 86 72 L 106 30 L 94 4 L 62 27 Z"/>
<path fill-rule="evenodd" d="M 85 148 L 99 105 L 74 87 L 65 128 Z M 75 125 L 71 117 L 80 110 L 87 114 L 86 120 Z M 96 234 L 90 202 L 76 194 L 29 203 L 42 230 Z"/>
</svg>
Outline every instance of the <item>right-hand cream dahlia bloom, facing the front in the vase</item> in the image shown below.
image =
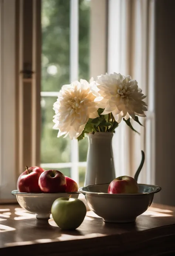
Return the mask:
<svg viewBox="0 0 175 256">
<path fill-rule="evenodd" d="M 97 87 L 103 97 L 99 102 L 99 107 L 104 108 L 102 115 L 112 112 L 118 123 L 122 117 L 127 120 L 129 117 L 134 119 L 135 115 L 146 116 L 147 104 L 143 101 L 146 96 L 130 76 L 106 73 L 97 76 Z"/>
</svg>

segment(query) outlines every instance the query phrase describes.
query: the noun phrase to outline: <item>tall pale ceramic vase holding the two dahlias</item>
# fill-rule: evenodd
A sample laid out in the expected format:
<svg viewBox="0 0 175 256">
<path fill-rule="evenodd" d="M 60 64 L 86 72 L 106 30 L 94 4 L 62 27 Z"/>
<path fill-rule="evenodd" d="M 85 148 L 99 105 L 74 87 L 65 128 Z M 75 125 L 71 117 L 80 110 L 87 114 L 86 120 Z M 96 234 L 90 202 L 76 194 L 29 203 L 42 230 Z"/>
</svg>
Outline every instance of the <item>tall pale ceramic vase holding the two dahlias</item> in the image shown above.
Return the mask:
<svg viewBox="0 0 175 256">
<path fill-rule="evenodd" d="M 85 186 L 110 183 L 114 180 L 115 170 L 112 150 L 112 132 L 88 134 L 87 168 Z"/>
</svg>

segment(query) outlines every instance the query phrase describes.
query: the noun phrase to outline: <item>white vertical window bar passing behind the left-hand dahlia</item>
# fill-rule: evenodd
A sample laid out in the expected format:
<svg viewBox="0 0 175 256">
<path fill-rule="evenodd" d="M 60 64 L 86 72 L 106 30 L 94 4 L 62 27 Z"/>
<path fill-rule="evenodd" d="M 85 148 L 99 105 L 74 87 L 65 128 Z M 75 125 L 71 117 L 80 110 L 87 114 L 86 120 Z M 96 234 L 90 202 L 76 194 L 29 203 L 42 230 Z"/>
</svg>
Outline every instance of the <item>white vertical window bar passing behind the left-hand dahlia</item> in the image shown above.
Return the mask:
<svg viewBox="0 0 175 256">
<path fill-rule="evenodd" d="M 79 14 L 78 0 L 70 1 L 70 81 L 78 79 L 78 42 L 79 42 Z M 71 141 L 71 178 L 79 184 L 79 153 L 78 140 Z"/>
</svg>

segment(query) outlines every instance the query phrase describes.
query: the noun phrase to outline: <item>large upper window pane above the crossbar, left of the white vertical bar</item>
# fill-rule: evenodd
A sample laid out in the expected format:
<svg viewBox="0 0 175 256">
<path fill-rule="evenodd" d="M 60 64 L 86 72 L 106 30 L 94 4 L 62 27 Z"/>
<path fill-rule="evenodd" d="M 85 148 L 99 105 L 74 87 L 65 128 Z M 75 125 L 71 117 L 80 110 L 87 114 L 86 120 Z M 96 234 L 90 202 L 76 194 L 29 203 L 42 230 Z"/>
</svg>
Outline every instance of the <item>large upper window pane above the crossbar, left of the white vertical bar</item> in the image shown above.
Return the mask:
<svg viewBox="0 0 175 256">
<path fill-rule="evenodd" d="M 42 0 L 41 91 L 69 83 L 69 14 L 68 0 Z"/>
</svg>

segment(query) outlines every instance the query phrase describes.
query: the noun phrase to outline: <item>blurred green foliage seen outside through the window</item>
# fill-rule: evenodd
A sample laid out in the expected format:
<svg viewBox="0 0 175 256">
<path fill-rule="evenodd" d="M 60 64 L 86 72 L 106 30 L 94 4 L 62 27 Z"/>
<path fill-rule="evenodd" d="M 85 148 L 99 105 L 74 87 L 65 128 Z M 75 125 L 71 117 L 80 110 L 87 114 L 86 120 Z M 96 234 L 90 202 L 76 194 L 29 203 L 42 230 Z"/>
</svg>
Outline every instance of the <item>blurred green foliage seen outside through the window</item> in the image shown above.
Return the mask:
<svg viewBox="0 0 175 256">
<path fill-rule="evenodd" d="M 71 177 L 71 140 L 57 138 L 53 130 L 52 109 L 56 92 L 69 83 L 70 73 L 70 1 L 42 0 L 42 56 L 41 56 L 41 164 L 48 170 L 55 166 Z M 89 80 L 90 1 L 79 0 L 79 79 Z M 88 140 L 79 141 L 79 162 L 86 162 Z M 56 168 L 56 164 L 60 163 Z M 62 163 L 62 164 L 61 164 Z M 67 163 L 67 164 L 66 164 Z M 52 165 L 51 165 L 52 164 Z M 55 164 L 55 165 L 53 165 Z M 85 163 L 80 164 L 79 186 L 85 179 Z"/>
</svg>

